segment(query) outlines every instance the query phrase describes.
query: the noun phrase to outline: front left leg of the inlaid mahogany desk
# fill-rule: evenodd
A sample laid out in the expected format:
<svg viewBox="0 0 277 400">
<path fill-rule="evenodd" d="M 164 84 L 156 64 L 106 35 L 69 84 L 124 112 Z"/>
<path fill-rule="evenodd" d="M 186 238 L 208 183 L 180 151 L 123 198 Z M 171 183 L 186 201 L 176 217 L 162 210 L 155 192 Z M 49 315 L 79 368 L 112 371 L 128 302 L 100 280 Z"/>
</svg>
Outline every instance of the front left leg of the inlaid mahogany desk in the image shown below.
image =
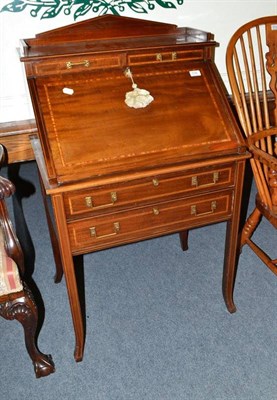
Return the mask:
<svg viewBox="0 0 277 400">
<path fill-rule="evenodd" d="M 75 331 L 76 344 L 74 357 L 76 361 L 82 361 L 85 342 L 84 324 L 80 307 L 75 267 L 68 237 L 63 199 L 61 194 L 52 195 L 51 197 L 59 236 L 61 260 L 63 264 L 63 271 Z"/>
</svg>

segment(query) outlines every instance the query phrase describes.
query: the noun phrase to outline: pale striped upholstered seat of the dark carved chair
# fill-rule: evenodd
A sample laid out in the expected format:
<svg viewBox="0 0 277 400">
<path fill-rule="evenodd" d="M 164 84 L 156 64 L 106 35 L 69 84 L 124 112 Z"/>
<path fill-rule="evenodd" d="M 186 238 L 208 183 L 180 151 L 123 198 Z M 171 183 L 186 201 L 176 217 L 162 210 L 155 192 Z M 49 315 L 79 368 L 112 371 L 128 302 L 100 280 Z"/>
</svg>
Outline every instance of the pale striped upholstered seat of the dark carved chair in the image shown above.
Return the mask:
<svg viewBox="0 0 277 400">
<path fill-rule="evenodd" d="M 5 250 L 4 237 L 0 229 L 0 296 L 23 290 L 16 263 Z"/>
</svg>

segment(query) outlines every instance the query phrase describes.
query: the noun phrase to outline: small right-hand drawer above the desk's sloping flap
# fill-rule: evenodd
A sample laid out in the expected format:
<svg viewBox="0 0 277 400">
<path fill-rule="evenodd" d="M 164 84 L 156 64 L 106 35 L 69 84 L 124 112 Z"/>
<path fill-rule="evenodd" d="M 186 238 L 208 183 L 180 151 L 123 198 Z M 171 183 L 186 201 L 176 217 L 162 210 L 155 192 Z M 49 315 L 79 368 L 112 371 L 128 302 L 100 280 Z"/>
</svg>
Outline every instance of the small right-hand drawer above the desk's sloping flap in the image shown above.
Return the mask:
<svg viewBox="0 0 277 400">
<path fill-rule="evenodd" d="M 128 56 L 128 65 L 139 65 L 139 64 L 153 64 L 169 61 L 192 61 L 202 60 L 203 49 L 197 50 L 185 50 L 185 51 L 162 51 L 162 52 L 151 52 L 146 54 L 130 54 Z"/>
</svg>

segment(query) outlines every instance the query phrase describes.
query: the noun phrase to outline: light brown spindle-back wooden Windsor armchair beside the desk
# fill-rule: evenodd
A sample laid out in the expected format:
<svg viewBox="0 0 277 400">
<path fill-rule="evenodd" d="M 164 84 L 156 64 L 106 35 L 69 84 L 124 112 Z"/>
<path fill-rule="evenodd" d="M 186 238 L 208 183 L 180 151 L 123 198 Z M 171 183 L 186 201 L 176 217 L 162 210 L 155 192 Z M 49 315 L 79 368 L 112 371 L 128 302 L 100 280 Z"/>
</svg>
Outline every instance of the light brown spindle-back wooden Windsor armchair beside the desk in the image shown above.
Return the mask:
<svg viewBox="0 0 277 400">
<path fill-rule="evenodd" d="M 272 259 L 252 239 L 262 217 L 277 227 L 277 16 L 251 21 L 232 36 L 226 53 L 232 98 L 252 158 L 256 206 L 241 236 L 277 275 Z"/>
</svg>

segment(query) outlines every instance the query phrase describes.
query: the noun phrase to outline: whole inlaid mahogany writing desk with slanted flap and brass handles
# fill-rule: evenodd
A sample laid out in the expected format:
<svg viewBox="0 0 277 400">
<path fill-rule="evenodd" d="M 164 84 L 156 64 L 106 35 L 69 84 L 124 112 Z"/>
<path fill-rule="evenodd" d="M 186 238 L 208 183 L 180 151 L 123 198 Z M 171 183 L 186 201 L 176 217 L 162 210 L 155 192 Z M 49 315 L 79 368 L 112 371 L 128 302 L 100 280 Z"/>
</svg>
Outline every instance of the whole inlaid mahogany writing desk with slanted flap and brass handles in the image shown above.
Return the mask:
<svg viewBox="0 0 277 400">
<path fill-rule="evenodd" d="M 216 45 L 206 32 L 111 15 L 22 41 L 77 361 L 84 330 L 75 255 L 174 232 L 186 249 L 188 229 L 227 221 L 223 295 L 235 311 L 247 153 L 214 64 Z"/>
</svg>

